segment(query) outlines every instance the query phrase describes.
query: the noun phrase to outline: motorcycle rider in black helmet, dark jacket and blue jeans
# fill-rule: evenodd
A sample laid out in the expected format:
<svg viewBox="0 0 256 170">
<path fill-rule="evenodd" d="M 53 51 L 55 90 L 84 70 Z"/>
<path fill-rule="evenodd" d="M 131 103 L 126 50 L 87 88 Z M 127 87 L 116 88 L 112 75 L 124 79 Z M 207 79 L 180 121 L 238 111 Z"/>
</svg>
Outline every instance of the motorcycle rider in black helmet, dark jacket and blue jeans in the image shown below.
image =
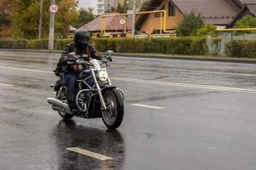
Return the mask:
<svg viewBox="0 0 256 170">
<path fill-rule="evenodd" d="M 90 33 L 88 31 L 77 31 L 74 35 L 74 42 L 68 43 L 61 54 L 61 59 L 57 68 L 64 71 L 65 82 L 67 83 L 67 105 L 70 111 L 76 111 L 75 98 L 78 94 L 79 72 L 76 71 L 75 65 L 69 65 L 67 61 L 75 62 L 76 59 L 69 58 L 68 53 L 75 53 L 83 56 L 84 60 L 89 61 L 90 58 L 102 59 L 101 54 L 97 54 L 95 48 L 90 44 Z M 85 56 L 84 56 L 85 54 Z"/>
</svg>

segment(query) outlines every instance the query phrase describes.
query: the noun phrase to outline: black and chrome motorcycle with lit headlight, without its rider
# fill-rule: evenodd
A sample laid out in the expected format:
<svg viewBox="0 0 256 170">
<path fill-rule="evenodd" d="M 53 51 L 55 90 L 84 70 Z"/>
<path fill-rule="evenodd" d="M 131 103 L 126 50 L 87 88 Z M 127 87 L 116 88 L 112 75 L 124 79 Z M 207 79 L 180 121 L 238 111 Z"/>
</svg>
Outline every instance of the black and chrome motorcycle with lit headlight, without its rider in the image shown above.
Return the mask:
<svg viewBox="0 0 256 170">
<path fill-rule="evenodd" d="M 77 80 L 79 93 L 76 95 L 78 111 L 70 111 L 67 105 L 67 85 L 64 73 L 58 73 L 57 76 L 60 79 L 51 85 L 56 92 L 55 99 L 47 98 L 52 109 L 58 111 L 63 119 L 68 120 L 73 116 L 87 119 L 102 118 L 109 129 L 119 127 L 124 116 L 125 95 L 120 88 L 112 85 L 108 77 L 107 67 L 112 60 L 110 58 L 112 54 L 113 51 L 108 50 L 107 55 L 102 59 L 90 59 L 89 62 L 74 53 L 68 54 L 68 57 L 74 58 L 76 61 L 67 61 L 67 64 L 76 65 L 76 68 L 79 69 Z"/>
</svg>

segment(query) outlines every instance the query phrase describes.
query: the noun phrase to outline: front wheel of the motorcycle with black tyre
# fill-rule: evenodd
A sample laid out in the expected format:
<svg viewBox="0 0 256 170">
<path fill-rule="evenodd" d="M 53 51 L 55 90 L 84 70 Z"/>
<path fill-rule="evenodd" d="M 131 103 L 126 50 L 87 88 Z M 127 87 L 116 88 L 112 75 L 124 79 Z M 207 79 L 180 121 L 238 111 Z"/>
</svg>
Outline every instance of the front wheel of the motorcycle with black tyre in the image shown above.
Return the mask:
<svg viewBox="0 0 256 170">
<path fill-rule="evenodd" d="M 109 129 L 120 126 L 124 116 L 124 103 L 117 89 L 109 89 L 103 94 L 106 110 L 102 108 L 102 120 Z"/>
</svg>

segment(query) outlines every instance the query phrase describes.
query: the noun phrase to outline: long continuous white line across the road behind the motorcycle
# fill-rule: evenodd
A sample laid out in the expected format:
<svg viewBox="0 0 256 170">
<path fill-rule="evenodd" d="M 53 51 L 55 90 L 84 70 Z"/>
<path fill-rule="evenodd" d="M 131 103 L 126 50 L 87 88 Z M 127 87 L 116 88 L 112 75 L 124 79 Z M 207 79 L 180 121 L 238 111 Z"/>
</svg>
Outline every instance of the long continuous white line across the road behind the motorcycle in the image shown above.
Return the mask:
<svg viewBox="0 0 256 170">
<path fill-rule="evenodd" d="M 32 69 L 32 68 L 20 68 L 20 67 L 9 66 L 9 65 L 0 65 L 0 68 L 12 69 L 17 71 L 32 71 L 32 72 L 53 74 L 53 71 Z M 113 80 L 123 81 L 123 82 L 140 82 L 140 83 L 184 87 L 184 88 L 202 88 L 202 89 L 211 89 L 211 90 L 218 90 L 218 91 L 243 92 L 243 93 L 256 94 L 256 89 L 248 89 L 248 88 L 230 88 L 230 87 L 210 86 L 210 85 L 204 85 L 204 84 L 191 84 L 191 83 L 182 83 L 182 82 L 161 82 L 161 81 L 128 78 L 128 77 L 110 77 L 110 78 L 112 78 Z"/>
</svg>

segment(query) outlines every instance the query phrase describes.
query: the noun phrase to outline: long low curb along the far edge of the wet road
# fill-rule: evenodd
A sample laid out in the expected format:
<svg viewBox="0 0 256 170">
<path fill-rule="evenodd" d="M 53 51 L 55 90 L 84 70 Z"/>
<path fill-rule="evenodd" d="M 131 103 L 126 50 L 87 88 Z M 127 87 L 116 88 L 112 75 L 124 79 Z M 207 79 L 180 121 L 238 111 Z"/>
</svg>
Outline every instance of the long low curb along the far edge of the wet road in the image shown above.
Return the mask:
<svg viewBox="0 0 256 170">
<path fill-rule="evenodd" d="M 44 53 L 44 54 L 61 54 L 61 50 L 32 50 L 32 49 L 6 49 L 1 48 L 0 51 L 14 51 L 14 52 L 29 52 L 29 53 Z M 104 54 L 104 53 L 99 53 Z M 229 62 L 229 63 L 247 63 L 256 64 L 256 59 L 236 59 L 212 56 L 198 56 L 198 55 L 166 55 L 166 54 L 119 54 L 115 55 L 121 57 L 134 58 L 148 58 L 148 59 L 179 59 L 179 60 L 194 60 L 194 61 L 212 61 L 212 62 Z"/>
</svg>

